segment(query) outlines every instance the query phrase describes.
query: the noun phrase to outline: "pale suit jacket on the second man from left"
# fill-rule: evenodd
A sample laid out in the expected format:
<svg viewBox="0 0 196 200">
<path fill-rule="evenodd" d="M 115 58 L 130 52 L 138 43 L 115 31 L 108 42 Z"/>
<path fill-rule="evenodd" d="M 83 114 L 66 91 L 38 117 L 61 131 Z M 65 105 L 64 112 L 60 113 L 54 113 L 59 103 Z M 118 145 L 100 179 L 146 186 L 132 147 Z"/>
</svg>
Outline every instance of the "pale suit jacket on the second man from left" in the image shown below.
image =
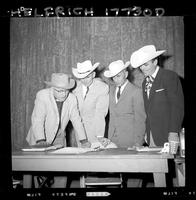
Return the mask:
<svg viewBox="0 0 196 200">
<path fill-rule="evenodd" d="M 97 136 L 104 136 L 105 133 L 105 117 L 109 107 L 109 86 L 100 78 L 94 78 L 84 99 L 82 84 L 78 81 L 73 93 L 78 100 L 88 140 L 91 143 L 97 142 Z"/>
</svg>

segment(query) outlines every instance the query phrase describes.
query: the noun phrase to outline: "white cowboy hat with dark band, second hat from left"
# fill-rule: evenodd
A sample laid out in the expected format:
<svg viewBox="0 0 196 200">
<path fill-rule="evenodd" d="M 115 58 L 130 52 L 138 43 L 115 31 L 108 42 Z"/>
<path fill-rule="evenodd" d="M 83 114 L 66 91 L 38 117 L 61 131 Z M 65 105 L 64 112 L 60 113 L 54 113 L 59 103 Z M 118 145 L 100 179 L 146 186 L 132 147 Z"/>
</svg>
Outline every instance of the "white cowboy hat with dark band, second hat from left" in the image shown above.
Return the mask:
<svg viewBox="0 0 196 200">
<path fill-rule="evenodd" d="M 85 78 L 91 72 L 93 72 L 100 63 L 95 63 L 92 65 L 90 60 L 86 60 L 82 63 L 77 63 L 77 68 L 72 68 L 73 75 L 76 78 Z"/>
</svg>

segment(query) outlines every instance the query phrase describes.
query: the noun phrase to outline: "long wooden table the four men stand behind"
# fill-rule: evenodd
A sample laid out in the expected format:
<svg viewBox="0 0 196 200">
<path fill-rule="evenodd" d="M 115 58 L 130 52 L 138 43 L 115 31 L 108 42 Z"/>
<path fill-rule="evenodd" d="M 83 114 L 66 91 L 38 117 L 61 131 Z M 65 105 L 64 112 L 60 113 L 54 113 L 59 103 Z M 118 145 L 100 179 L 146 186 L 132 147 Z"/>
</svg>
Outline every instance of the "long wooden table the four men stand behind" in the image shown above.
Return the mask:
<svg viewBox="0 0 196 200">
<path fill-rule="evenodd" d="M 153 173 L 155 187 L 166 187 L 168 159 L 174 156 L 158 152 L 137 152 L 123 148 L 83 154 L 50 152 L 13 152 L 12 171 L 23 172 L 23 187 L 31 187 L 31 172 L 136 172 Z"/>
</svg>

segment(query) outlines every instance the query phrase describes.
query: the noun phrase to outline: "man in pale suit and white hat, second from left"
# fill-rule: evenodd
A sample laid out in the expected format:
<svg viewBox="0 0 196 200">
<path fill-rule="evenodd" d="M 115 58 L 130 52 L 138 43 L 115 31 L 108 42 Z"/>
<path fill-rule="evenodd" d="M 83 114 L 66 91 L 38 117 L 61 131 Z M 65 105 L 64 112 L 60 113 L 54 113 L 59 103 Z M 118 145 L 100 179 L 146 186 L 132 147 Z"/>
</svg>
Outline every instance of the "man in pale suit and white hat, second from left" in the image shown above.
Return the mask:
<svg viewBox="0 0 196 200">
<path fill-rule="evenodd" d="M 95 69 L 99 63 L 92 65 L 90 60 L 78 62 L 72 68 L 73 75 L 78 79 L 77 87 L 73 90 L 76 95 L 79 111 L 92 145 L 106 147 L 109 140 L 104 137 L 105 117 L 108 113 L 109 87 L 100 78 L 95 78 Z"/>
</svg>

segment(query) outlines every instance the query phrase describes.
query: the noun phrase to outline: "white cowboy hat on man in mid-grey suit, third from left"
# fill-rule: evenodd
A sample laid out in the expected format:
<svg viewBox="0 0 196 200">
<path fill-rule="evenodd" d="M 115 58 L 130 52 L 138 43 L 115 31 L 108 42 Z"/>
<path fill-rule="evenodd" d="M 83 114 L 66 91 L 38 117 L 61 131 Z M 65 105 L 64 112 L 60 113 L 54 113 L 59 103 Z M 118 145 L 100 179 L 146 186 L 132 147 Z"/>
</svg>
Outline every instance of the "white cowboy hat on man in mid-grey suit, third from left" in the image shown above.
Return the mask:
<svg viewBox="0 0 196 200">
<path fill-rule="evenodd" d="M 113 76 L 116 76 L 118 73 L 120 73 L 123 69 L 126 69 L 129 66 L 130 62 L 127 61 L 125 64 L 122 60 L 117 60 L 109 64 L 108 68 L 109 70 L 106 70 L 104 72 L 104 76 L 107 78 L 111 78 Z"/>
</svg>

